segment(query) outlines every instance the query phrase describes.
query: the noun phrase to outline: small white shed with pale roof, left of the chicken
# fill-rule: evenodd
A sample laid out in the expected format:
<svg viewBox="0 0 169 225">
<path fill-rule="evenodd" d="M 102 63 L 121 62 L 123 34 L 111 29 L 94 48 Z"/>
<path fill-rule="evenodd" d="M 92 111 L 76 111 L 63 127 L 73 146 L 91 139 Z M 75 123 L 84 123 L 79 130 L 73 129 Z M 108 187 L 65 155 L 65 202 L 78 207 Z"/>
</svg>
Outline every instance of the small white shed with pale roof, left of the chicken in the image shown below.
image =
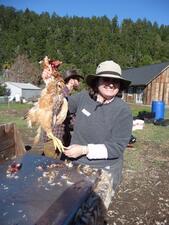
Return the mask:
<svg viewBox="0 0 169 225">
<path fill-rule="evenodd" d="M 21 99 L 36 99 L 40 96 L 41 88 L 31 83 L 5 82 L 6 87 L 10 90 L 9 100 L 15 98 L 16 101 Z"/>
</svg>

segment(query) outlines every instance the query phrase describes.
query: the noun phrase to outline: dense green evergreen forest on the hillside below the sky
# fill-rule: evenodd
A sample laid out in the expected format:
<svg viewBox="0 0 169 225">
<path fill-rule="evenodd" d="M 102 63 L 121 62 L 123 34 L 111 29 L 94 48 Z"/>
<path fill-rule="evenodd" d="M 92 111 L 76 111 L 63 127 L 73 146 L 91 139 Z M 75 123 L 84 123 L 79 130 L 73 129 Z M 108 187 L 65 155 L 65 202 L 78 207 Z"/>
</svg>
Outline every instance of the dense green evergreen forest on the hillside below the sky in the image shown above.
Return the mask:
<svg viewBox="0 0 169 225">
<path fill-rule="evenodd" d="M 130 18 L 119 24 L 116 15 L 112 19 L 61 17 L 0 5 L 0 75 L 10 69 L 19 73 L 20 59 L 22 65 L 29 65 L 29 78 L 39 73 L 31 81 L 40 84 L 38 62 L 46 55 L 83 76 L 95 73 L 104 60 L 112 59 L 123 69 L 165 62 L 169 61 L 169 26 Z M 23 76 L 18 80 L 26 81 Z"/>
</svg>

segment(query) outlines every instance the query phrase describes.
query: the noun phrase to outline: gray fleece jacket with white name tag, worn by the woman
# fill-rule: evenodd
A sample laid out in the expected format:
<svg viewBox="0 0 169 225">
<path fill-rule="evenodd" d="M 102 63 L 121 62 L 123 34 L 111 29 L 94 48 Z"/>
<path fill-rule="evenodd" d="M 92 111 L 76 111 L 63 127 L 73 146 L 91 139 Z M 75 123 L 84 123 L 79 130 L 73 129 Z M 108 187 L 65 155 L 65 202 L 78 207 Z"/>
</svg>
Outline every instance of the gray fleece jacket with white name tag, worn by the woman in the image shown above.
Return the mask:
<svg viewBox="0 0 169 225">
<path fill-rule="evenodd" d="M 105 144 L 108 150 L 108 159 L 89 160 L 82 156 L 73 161 L 96 168 L 113 166 L 122 161 L 133 125 L 128 105 L 118 97 L 101 105 L 87 91 L 69 96 L 68 103 L 70 113 L 76 114 L 71 144 Z"/>
</svg>

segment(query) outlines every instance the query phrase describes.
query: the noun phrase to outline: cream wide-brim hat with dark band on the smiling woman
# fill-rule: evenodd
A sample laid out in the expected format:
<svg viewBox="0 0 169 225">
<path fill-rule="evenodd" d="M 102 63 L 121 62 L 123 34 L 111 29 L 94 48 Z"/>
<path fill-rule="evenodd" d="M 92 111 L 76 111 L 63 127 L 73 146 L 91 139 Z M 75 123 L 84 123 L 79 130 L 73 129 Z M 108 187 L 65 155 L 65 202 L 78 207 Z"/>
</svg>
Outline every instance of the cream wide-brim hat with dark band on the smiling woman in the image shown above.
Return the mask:
<svg viewBox="0 0 169 225">
<path fill-rule="evenodd" d="M 99 77 L 117 79 L 120 82 L 120 90 L 126 89 L 131 83 L 131 81 L 126 80 L 121 76 L 121 67 L 112 60 L 100 63 L 96 69 L 96 74 L 88 75 L 86 77 L 87 85 L 89 87 L 93 87 L 95 85 L 95 81 Z"/>
</svg>

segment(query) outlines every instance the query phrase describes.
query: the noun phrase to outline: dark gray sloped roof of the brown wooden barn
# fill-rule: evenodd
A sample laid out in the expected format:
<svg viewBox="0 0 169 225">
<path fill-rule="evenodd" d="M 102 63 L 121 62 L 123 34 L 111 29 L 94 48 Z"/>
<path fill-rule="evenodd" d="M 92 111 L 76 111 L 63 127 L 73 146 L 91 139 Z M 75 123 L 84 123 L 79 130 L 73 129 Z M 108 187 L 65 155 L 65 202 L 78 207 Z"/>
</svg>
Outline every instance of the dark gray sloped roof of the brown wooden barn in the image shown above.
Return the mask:
<svg viewBox="0 0 169 225">
<path fill-rule="evenodd" d="M 169 62 L 146 65 L 139 68 L 123 70 L 122 76 L 130 80 L 131 85 L 146 85 L 169 66 Z"/>
</svg>

